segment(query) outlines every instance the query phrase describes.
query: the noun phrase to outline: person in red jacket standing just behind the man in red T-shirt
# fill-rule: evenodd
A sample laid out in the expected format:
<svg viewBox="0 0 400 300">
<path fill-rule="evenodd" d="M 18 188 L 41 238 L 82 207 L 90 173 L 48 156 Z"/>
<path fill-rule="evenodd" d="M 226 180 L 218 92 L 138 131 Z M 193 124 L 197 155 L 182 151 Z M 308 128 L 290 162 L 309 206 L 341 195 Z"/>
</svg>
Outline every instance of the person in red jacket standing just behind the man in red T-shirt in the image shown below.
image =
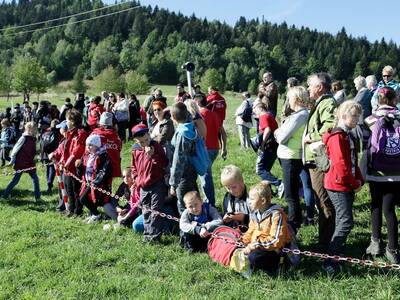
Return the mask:
<svg viewBox="0 0 400 300">
<path fill-rule="evenodd" d="M 221 143 L 221 157 L 226 159 L 227 155 L 227 135 L 224 128 L 224 120 L 226 115 L 225 98 L 218 92 L 215 86 L 208 87 L 207 108 L 215 112 L 219 118 L 219 139 Z"/>
</svg>

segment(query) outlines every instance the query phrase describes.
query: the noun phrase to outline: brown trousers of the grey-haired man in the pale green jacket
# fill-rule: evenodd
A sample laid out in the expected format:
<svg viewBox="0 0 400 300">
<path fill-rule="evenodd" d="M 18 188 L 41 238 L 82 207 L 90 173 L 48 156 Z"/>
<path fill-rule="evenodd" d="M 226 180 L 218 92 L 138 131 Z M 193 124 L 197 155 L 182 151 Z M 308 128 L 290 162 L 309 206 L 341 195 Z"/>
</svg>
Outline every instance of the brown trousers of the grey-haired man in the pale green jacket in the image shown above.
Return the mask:
<svg viewBox="0 0 400 300">
<path fill-rule="evenodd" d="M 325 173 L 317 169 L 310 169 L 312 188 L 316 195 L 318 207 L 318 240 L 322 251 L 328 250 L 333 232 L 335 231 L 335 209 L 324 188 Z"/>
</svg>

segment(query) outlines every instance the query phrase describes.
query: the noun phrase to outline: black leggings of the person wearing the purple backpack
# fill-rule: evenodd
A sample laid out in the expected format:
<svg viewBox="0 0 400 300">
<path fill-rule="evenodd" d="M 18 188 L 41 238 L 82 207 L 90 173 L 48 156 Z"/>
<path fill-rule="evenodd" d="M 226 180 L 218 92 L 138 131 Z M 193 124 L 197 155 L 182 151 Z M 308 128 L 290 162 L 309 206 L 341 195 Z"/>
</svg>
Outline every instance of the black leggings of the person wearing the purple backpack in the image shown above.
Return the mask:
<svg viewBox="0 0 400 300">
<path fill-rule="evenodd" d="M 399 246 L 398 221 L 395 207 L 400 204 L 399 182 L 370 182 L 372 237 L 382 238 L 382 210 L 385 214 L 388 248 Z"/>
</svg>

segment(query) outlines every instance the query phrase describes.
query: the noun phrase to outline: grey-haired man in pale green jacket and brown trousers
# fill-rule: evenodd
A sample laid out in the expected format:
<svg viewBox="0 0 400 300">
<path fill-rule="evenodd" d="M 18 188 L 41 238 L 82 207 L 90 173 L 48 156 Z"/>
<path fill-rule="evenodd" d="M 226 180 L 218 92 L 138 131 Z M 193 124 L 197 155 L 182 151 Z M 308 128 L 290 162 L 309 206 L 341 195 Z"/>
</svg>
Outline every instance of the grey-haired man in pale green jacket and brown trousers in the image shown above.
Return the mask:
<svg viewBox="0 0 400 300">
<path fill-rule="evenodd" d="M 322 135 L 335 125 L 336 100 L 331 94 L 331 78 L 327 73 L 311 75 L 308 80 L 310 100 L 315 101 L 303 135 L 303 162 L 310 170 L 311 185 L 319 209 L 319 243 L 327 250 L 335 228 L 335 211 L 324 188 L 325 173 L 316 168 L 313 146 L 321 143 Z"/>
</svg>

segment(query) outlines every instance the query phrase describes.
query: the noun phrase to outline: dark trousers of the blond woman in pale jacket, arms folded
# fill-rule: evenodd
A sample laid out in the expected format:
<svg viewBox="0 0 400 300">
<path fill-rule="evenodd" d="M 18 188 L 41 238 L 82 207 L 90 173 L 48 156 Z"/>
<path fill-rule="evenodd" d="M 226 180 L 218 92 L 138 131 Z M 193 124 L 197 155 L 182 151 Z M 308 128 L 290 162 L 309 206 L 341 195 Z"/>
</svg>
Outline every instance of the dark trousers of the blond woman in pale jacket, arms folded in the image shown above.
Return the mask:
<svg viewBox="0 0 400 300">
<path fill-rule="evenodd" d="M 301 159 L 281 159 L 285 200 L 288 204 L 288 221 L 294 230 L 300 228 L 302 221 L 300 207 L 300 173 L 303 170 Z"/>
</svg>

